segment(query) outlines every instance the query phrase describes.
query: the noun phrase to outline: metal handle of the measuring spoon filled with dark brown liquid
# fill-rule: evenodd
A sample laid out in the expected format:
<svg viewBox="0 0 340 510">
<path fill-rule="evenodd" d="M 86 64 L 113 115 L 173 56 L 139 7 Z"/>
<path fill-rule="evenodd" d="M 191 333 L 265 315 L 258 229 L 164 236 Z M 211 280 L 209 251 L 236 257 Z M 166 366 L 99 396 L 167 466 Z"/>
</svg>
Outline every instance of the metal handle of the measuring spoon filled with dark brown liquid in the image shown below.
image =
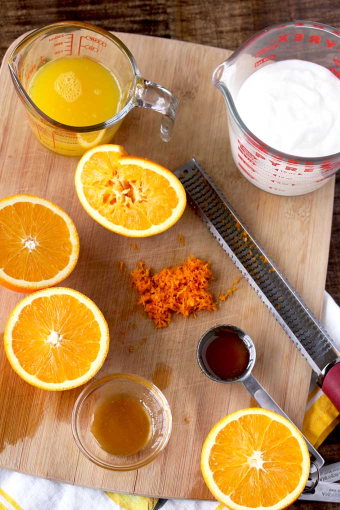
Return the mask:
<svg viewBox="0 0 340 510">
<path fill-rule="evenodd" d="M 282 411 L 281 407 L 277 405 L 275 400 L 272 399 L 272 397 L 266 392 L 263 386 L 259 384 L 258 380 L 252 374 L 249 374 L 248 377 L 241 382 L 246 390 L 249 391 L 250 395 L 252 395 L 256 402 L 260 405 L 260 407 L 264 407 L 264 409 L 269 409 L 270 411 L 274 411 L 275 413 L 284 416 L 284 418 L 295 425 L 295 423 L 284 413 L 284 411 Z M 309 443 L 303 434 L 302 437 L 307 444 L 309 453 L 312 455 L 312 457 L 314 457 L 312 460 L 317 464 L 318 468 L 321 468 L 325 463 L 323 457 Z"/>
</svg>

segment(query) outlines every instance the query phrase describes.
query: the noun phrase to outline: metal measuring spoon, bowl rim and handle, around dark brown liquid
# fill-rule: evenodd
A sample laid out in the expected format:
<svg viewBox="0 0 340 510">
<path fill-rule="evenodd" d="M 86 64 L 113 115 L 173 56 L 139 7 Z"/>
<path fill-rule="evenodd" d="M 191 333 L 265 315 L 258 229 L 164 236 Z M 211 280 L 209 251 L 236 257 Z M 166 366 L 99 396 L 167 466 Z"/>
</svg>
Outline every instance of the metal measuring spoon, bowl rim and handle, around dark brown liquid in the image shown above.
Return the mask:
<svg viewBox="0 0 340 510">
<path fill-rule="evenodd" d="M 206 362 L 205 353 L 208 345 L 212 343 L 212 341 L 216 338 L 216 333 L 218 330 L 230 331 L 231 333 L 236 334 L 240 340 L 246 346 L 249 353 L 249 362 L 245 371 L 236 378 L 233 379 L 221 379 L 218 375 L 216 375 L 209 365 Z M 295 423 L 282 411 L 281 407 L 273 400 L 273 398 L 266 392 L 266 390 L 259 384 L 258 380 L 252 375 L 251 371 L 255 364 L 256 359 L 256 350 L 255 345 L 249 335 L 245 333 L 242 329 L 237 326 L 232 326 L 231 324 L 220 324 L 218 326 L 214 326 L 207 331 L 205 331 L 204 335 L 201 337 L 200 341 L 197 345 L 197 361 L 202 372 L 207 376 L 213 379 L 216 382 L 225 382 L 229 384 L 230 382 L 242 382 L 243 386 L 252 397 L 256 400 L 260 407 L 264 407 L 264 409 L 269 409 L 270 411 L 274 411 L 281 416 L 284 416 L 287 420 L 289 420 L 293 425 Z M 295 425 L 296 426 L 296 425 Z M 317 465 L 318 468 L 321 468 L 325 463 L 323 457 L 320 453 L 309 443 L 309 441 L 303 436 L 305 440 L 308 451 L 312 457 L 312 461 Z"/>
</svg>

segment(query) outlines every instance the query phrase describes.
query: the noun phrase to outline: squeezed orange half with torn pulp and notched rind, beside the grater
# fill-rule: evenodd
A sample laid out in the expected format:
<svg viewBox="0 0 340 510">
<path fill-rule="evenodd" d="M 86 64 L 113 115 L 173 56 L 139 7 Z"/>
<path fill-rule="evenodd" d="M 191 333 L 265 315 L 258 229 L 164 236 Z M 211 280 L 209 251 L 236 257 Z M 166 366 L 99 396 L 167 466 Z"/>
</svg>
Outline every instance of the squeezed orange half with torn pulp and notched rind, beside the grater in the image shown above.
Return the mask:
<svg viewBox="0 0 340 510">
<path fill-rule="evenodd" d="M 127 156 L 120 145 L 88 150 L 77 165 L 75 189 L 93 219 L 128 237 L 167 230 L 186 207 L 185 190 L 170 170 Z"/>
</svg>

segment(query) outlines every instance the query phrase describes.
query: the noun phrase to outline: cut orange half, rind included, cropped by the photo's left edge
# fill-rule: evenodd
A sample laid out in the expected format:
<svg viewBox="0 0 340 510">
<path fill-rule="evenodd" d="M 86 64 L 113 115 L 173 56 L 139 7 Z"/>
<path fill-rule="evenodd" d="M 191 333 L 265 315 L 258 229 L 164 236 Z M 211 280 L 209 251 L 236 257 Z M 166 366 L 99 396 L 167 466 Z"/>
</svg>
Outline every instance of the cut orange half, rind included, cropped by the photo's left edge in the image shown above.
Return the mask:
<svg viewBox="0 0 340 510">
<path fill-rule="evenodd" d="M 33 195 L 0 200 L 0 284 L 18 292 L 58 285 L 73 270 L 79 238 L 55 203 Z"/>
</svg>

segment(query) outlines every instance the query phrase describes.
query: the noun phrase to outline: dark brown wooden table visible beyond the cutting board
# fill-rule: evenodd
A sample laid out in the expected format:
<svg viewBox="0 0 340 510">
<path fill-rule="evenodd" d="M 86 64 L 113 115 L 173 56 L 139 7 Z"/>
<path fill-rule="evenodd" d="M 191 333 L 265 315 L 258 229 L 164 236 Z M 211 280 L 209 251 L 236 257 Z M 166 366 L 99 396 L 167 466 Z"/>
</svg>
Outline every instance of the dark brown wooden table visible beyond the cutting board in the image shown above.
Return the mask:
<svg viewBox="0 0 340 510">
<path fill-rule="evenodd" d="M 80 20 L 132 32 L 235 49 L 255 32 L 288 20 L 312 20 L 340 29 L 338 0 L 0 0 L 0 59 L 23 32 L 47 23 Z M 340 134 L 339 134 L 340 136 Z M 340 303 L 340 172 L 337 174 L 326 290 Z M 340 425 L 320 447 L 326 462 L 340 460 Z M 292 508 L 331 510 L 334 503 Z"/>
</svg>

